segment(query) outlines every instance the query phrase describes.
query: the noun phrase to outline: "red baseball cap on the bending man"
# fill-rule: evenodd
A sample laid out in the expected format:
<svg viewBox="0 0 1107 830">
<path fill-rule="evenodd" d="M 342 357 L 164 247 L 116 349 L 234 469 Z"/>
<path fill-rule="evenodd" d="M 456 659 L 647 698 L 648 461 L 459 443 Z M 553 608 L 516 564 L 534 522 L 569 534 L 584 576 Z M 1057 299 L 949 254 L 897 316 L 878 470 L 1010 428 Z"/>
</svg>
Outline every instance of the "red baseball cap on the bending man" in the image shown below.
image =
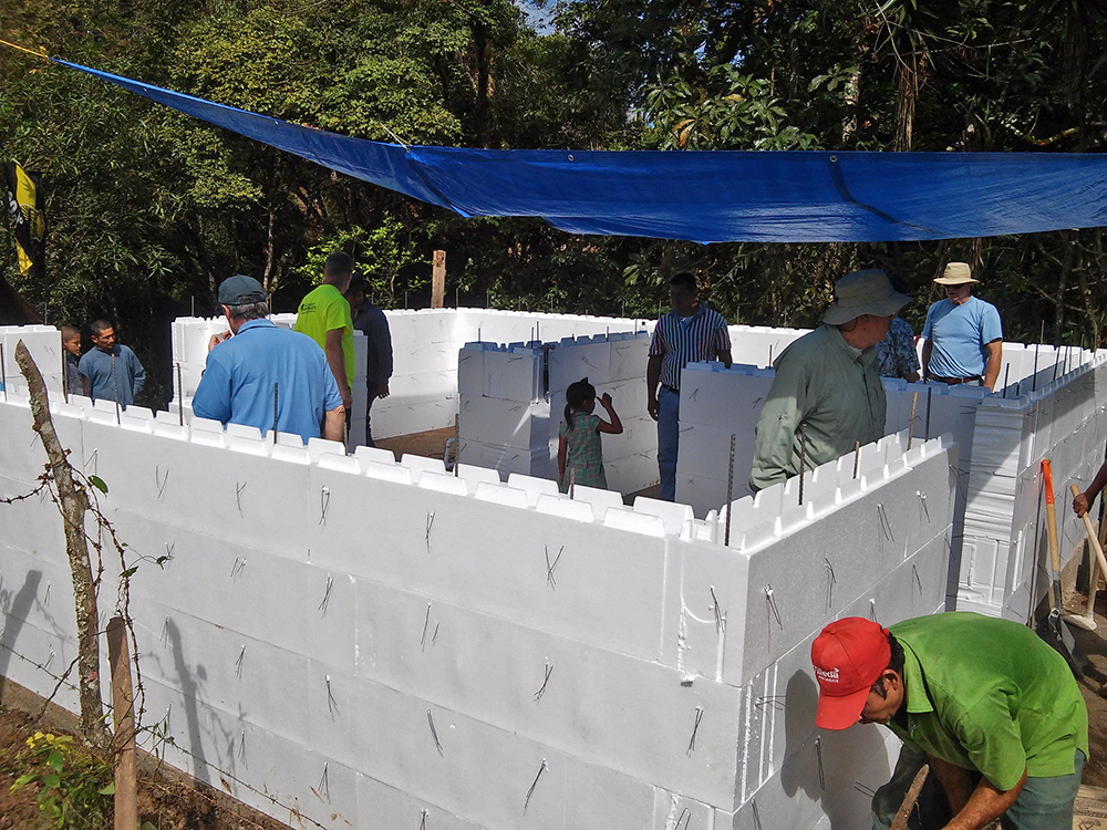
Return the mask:
<svg viewBox="0 0 1107 830">
<path fill-rule="evenodd" d="M 871 620 L 847 616 L 823 629 L 811 643 L 811 664 L 819 682 L 815 725 L 846 729 L 856 724 L 891 655 L 888 629 Z"/>
</svg>

